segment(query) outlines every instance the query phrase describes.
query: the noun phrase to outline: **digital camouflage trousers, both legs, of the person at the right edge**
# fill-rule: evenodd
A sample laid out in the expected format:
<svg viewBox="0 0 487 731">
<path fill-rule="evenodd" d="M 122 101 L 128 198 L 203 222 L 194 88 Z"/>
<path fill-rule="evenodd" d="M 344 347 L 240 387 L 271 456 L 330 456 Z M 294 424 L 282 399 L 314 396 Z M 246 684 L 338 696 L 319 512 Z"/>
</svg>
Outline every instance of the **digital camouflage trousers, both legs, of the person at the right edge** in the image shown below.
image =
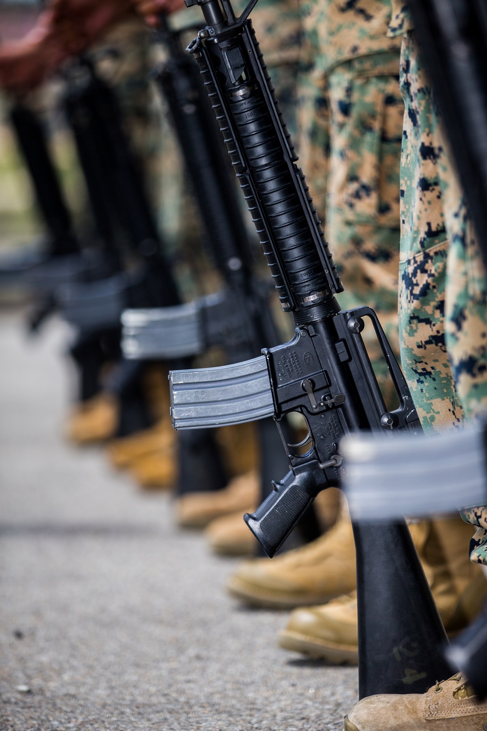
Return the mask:
<svg viewBox="0 0 487 731">
<path fill-rule="evenodd" d="M 487 406 L 487 279 L 414 35 L 402 44 L 399 333 L 402 368 L 425 431 L 460 426 Z M 459 485 L 461 490 L 461 485 Z M 470 558 L 487 564 L 487 507 Z"/>
</svg>

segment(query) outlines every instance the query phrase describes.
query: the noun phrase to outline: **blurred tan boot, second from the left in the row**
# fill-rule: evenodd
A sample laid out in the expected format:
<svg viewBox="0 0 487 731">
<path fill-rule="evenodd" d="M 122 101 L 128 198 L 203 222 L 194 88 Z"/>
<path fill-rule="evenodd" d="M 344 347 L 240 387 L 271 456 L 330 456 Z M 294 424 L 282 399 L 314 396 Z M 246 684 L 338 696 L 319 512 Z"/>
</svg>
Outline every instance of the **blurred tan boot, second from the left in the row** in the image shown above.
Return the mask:
<svg viewBox="0 0 487 731">
<path fill-rule="evenodd" d="M 114 467 L 129 468 L 141 457 L 166 448 L 175 448 L 177 435 L 168 419 L 161 419 L 155 426 L 138 431 L 122 439 L 114 439 L 107 447 L 107 455 Z"/>
</svg>

